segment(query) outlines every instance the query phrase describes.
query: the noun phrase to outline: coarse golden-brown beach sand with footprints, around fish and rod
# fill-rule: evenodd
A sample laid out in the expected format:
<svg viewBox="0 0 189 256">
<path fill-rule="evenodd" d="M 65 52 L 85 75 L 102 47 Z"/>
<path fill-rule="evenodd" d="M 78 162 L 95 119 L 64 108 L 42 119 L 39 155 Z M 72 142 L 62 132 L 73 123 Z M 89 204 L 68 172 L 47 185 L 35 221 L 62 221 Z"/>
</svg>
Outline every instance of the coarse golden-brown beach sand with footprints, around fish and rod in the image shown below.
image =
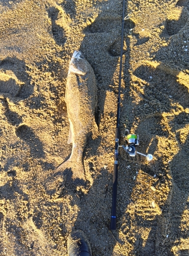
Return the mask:
<svg viewBox="0 0 189 256">
<path fill-rule="evenodd" d="M 189 2 L 126 1 L 117 230 L 110 231 L 122 1 L 0 2 L 0 254 L 67 255 L 81 229 L 93 256 L 189 255 Z M 86 186 L 55 179 L 71 153 L 64 101 L 80 50 L 98 88 Z"/>
</svg>

